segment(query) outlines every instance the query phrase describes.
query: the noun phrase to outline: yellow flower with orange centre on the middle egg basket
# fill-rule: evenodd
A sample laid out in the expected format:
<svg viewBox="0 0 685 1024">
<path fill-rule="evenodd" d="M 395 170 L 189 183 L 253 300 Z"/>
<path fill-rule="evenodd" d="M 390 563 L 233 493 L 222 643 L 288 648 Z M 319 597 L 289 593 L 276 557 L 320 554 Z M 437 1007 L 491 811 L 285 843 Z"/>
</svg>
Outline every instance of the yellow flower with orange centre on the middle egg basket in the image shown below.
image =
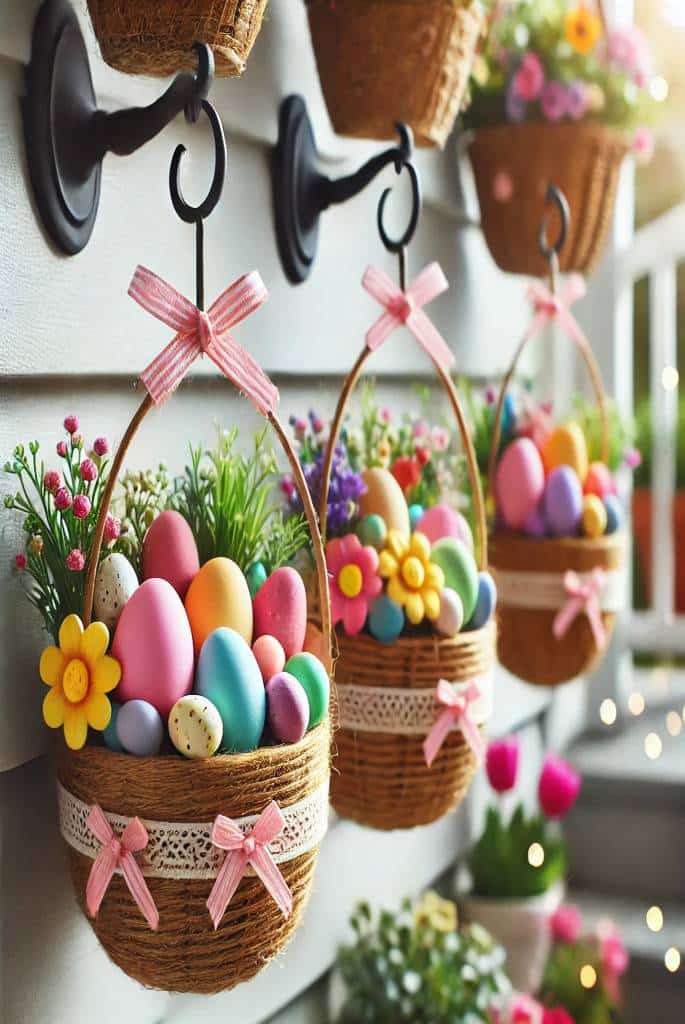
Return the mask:
<svg viewBox="0 0 685 1024">
<path fill-rule="evenodd" d="M 398 529 L 388 530 L 379 570 L 388 581 L 388 597 L 404 608 L 414 626 L 424 618 L 437 618 L 444 573 L 431 562 L 430 541 L 424 534 L 412 534 L 408 539 Z"/>
</svg>

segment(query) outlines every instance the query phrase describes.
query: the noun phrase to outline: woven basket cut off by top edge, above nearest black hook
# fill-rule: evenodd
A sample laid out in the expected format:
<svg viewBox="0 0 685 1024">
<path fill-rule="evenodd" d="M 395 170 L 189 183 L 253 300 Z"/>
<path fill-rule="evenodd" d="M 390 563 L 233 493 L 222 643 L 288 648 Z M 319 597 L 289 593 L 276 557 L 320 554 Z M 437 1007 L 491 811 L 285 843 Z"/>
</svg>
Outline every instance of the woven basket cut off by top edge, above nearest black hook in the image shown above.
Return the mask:
<svg viewBox="0 0 685 1024">
<path fill-rule="evenodd" d="M 129 75 L 192 69 L 195 42 L 214 51 L 216 74 L 242 75 L 268 0 L 88 0 L 102 59 Z"/>
</svg>

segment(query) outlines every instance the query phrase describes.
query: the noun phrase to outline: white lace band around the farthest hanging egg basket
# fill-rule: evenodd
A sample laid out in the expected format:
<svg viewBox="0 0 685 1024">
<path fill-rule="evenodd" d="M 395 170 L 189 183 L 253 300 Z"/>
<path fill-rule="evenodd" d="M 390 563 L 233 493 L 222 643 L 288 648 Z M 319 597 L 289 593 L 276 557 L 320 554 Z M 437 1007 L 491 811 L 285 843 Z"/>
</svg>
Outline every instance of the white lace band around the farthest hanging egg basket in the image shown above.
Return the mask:
<svg viewBox="0 0 685 1024">
<path fill-rule="evenodd" d="M 541 608 L 558 611 L 568 600 L 563 572 L 518 572 L 490 567 L 497 585 L 498 604 L 510 608 Z M 579 572 L 585 582 L 588 572 Z M 620 611 L 626 607 L 628 577 L 626 569 L 608 569 L 599 596 L 602 611 Z"/>
</svg>

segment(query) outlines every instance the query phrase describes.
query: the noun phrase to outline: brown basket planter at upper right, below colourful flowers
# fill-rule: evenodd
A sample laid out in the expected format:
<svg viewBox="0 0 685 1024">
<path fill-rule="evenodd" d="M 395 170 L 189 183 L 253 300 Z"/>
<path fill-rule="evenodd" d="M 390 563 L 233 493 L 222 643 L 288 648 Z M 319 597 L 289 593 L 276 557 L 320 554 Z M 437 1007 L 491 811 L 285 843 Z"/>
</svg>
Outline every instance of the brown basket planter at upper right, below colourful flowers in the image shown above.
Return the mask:
<svg viewBox="0 0 685 1024">
<path fill-rule="evenodd" d="M 623 135 L 600 124 L 530 121 L 476 131 L 470 157 L 483 233 L 497 265 L 510 273 L 546 273 L 538 231 L 553 183 L 571 212 L 561 269 L 592 271 L 604 250 L 627 153 Z M 508 200 L 498 189 L 502 175 L 511 182 Z"/>
</svg>

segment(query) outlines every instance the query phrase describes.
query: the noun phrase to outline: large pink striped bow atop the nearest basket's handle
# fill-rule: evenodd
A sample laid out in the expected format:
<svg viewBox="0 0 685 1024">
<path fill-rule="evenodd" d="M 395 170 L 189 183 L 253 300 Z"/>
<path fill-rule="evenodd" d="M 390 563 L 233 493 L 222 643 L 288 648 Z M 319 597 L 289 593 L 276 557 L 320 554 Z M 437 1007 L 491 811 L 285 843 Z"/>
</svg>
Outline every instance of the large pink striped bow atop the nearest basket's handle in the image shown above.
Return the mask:
<svg viewBox="0 0 685 1024">
<path fill-rule="evenodd" d="M 279 403 L 276 387 L 229 332 L 266 300 L 268 292 L 256 270 L 229 285 L 206 312 L 144 266 L 136 268 L 128 294 L 176 332 L 140 374 L 156 406 L 167 400 L 198 356 L 206 354 L 257 412 L 262 416 L 273 413 Z"/>
</svg>

